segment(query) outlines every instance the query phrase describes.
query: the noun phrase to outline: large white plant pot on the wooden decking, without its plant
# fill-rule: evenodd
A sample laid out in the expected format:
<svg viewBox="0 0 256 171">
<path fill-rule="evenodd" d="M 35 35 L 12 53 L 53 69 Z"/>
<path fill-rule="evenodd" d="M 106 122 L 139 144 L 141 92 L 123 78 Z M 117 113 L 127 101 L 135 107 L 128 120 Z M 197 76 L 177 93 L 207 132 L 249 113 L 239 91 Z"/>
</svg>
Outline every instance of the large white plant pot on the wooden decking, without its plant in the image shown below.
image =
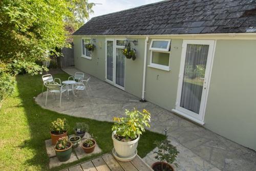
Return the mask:
<svg viewBox="0 0 256 171">
<path fill-rule="evenodd" d="M 116 153 L 123 158 L 131 157 L 132 155 L 134 155 L 138 146 L 140 136 L 138 136 L 138 138 L 133 141 L 122 142 L 115 139 L 114 137 L 115 134 L 116 132 L 114 131 L 112 133 L 112 139 L 113 139 L 113 144 L 114 144 Z"/>
</svg>

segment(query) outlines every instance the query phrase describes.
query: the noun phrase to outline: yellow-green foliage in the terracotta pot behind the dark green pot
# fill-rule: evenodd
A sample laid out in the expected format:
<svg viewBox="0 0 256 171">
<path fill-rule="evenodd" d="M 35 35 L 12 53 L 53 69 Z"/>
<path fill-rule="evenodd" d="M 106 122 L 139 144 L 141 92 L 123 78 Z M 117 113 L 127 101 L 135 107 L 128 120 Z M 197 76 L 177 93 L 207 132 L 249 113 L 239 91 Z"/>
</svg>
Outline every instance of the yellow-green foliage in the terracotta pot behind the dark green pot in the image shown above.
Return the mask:
<svg viewBox="0 0 256 171">
<path fill-rule="evenodd" d="M 67 132 L 69 125 L 66 122 L 66 119 L 60 119 L 53 121 L 50 126 L 50 131 L 52 134 L 63 134 Z"/>
</svg>

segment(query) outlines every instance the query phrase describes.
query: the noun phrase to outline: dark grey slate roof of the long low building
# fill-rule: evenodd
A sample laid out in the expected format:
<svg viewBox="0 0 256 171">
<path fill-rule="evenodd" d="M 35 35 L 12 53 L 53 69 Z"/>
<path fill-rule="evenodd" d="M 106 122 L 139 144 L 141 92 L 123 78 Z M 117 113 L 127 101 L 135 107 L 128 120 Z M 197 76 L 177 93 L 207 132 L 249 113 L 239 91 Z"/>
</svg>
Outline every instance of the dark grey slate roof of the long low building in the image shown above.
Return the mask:
<svg viewBox="0 0 256 171">
<path fill-rule="evenodd" d="M 170 0 L 97 16 L 74 35 L 256 32 L 256 0 Z"/>
</svg>

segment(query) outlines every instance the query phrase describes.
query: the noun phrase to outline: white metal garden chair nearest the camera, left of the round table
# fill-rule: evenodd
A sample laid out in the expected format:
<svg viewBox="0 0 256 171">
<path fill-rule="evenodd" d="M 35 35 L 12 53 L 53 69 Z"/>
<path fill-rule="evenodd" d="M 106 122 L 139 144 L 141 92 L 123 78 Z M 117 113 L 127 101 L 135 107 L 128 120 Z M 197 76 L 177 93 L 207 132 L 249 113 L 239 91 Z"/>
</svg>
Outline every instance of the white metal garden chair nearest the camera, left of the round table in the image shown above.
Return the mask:
<svg viewBox="0 0 256 171">
<path fill-rule="evenodd" d="M 45 86 L 47 87 L 47 91 L 46 91 L 46 105 L 47 105 L 48 92 L 50 92 L 50 93 L 54 93 L 55 99 L 56 99 L 56 93 L 60 94 L 60 98 L 59 98 L 59 106 L 60 106 L 62 93 L 67 91 L 66 84 L 63 85 L 63 86 L 59 86 L 58 83 L 46 82 Z"/>
</svg>

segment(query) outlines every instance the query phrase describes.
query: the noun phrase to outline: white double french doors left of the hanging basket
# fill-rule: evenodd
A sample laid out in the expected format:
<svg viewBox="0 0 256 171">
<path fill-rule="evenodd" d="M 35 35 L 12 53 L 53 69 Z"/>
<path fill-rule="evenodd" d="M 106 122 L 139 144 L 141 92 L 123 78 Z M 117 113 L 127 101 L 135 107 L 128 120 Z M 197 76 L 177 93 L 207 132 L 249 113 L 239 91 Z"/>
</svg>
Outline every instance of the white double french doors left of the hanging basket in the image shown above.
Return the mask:
<svg viewBox="0 0 256 171">
<path fill-rule="evenodd" d="M 124 39 L 106 39 L 106 65 L 105 79 L 107 82 L 124 90 L 125 56 L 122 51 L 125 46 Z"/>
</svg>

